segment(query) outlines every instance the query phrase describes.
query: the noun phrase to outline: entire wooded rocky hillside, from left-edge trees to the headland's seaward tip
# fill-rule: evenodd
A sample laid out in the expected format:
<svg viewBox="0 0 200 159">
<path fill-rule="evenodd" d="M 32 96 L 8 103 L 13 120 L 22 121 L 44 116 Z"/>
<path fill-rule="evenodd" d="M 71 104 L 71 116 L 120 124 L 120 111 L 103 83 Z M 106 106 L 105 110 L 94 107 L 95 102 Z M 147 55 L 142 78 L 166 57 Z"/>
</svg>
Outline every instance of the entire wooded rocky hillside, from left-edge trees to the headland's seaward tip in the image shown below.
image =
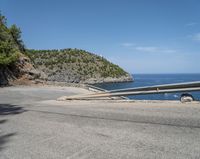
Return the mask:
<svg viewBox="0 0 200 159">
<path fill-rule="evenodd" d="M 28 50 L 16 25 L 0 14 L 0 85 L 12 81 L 100 83 L 131 81 L 132 77 L 105 58 L 78 49 Z"/>
</svg>

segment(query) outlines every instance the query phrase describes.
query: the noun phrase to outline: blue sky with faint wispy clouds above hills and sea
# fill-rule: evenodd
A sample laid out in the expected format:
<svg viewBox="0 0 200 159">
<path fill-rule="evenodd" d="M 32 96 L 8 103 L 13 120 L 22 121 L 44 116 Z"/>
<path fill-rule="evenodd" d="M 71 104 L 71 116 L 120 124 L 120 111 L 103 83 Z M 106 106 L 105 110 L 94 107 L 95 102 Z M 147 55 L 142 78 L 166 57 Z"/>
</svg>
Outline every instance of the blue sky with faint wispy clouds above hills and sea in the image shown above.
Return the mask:
<svg viewBox="0 0 200 159">
<path fill-rule="evenodd" d="M 0 0 L 27 48 L 80 48 L 130 73 L 200 73 L 200 0 Z"/>
</svg>

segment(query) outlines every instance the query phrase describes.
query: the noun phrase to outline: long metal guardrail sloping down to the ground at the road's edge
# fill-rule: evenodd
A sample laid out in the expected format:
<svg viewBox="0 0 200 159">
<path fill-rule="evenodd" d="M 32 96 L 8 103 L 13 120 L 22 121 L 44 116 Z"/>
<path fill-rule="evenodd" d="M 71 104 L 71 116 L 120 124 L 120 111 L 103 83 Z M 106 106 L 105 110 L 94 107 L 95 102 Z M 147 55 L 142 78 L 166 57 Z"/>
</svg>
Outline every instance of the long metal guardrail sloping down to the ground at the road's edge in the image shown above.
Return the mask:
<svg viewBox="0 0 200 159">
<path fill-rule="evenodd" d="M 101 89 L 92 86 L 94 89 Z M 137 87 L 128 89 L 118 89 L 107 91 L 101 89 L 99 93 L 88 94 L 88 95 L 76 95 L 68 96 L 66 100 L 72 99 L 97 99 L 97 98 L 111 98 L 111 97 L 123 97 L 130 95 L 145 95 L 145 94 L 161 94 L 161 93 L 174 93 L 174 92 L 193 92 L 200 91 L 200 81 L 196 82 L 186 82 L 186 83 L 175 83 L 175 84 L 165 84 L 147 87 Z"/>
</svg>

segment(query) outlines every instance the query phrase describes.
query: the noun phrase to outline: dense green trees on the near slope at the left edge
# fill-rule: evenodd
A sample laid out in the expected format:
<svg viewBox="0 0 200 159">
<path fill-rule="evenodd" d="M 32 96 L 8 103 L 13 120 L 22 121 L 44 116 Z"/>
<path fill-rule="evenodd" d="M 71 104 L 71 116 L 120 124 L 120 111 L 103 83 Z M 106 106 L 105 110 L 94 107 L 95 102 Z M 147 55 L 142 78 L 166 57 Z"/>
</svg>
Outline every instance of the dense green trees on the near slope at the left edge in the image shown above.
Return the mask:
<svg viewBox="0 0 200 159">
<path fill-rule="evenodd" d="M 24 50 L 20 29 L 16 25 L 8 28 L 5 16 L 0 14 L 0 67 L 16 62 Z"/>
</svg>

